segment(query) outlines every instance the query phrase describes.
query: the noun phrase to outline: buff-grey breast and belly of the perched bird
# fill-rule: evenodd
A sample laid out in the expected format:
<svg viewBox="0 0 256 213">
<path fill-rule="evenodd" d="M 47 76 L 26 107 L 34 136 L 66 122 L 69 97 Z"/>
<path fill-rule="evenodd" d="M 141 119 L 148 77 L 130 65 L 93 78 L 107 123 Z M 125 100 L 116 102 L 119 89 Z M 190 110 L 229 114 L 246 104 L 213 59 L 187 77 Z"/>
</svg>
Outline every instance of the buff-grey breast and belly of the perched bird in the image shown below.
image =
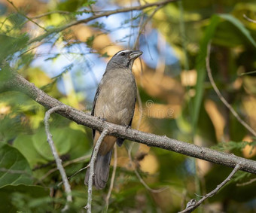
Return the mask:
<svg viewBox="0 0 256 213">
<path fill-rule="evenodd" d="M 111 123 L 129 125 L 136 100 L 133 75 L 114 75 L 104 80 L 96 100 L 95 115 Z"/>
</svg>

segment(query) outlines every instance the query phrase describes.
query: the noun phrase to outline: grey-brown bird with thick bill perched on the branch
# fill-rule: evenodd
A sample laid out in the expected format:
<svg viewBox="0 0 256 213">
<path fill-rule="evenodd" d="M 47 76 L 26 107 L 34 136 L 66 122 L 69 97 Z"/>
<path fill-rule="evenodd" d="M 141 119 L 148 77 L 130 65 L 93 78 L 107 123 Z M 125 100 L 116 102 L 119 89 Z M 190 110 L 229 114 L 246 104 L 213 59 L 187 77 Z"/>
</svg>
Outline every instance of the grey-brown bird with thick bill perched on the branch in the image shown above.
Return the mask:
<svg viewBox="0 0 256 213">
<path fill-rule="evenodd" d="M 109 123 L 130 127 L 136 105 L 137 87 L 133 76 L 133 62 L 142 55 L 140 50 L 120 50 L 109 60 L 93 101 L 91 114 Z M 93 129 L 93 146 L 100 132 Z M 114 144 L 123 144 L 123 138 L 107 135 L 99 147 L 94 164 L 93 185 L 104 189 L 108 182 L 109 166 Z M 88 185 L 90 168 L 84 184 Z"/>
</svg>

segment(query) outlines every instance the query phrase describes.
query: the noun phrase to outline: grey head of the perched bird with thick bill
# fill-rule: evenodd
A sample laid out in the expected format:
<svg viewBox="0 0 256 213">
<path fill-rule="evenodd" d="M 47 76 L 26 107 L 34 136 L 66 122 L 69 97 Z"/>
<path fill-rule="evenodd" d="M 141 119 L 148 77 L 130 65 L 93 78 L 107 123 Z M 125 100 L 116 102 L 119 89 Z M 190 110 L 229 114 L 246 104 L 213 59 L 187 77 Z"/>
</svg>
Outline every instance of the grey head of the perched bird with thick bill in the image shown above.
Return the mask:
<svg viewBox="0 0 256 213">
<path fill-rule="evenodd" d="M 108 62 L 107 68 L 130 68 L 136 58 L 142 55 L 140 50 L 120 50 Z"/>
</svg>

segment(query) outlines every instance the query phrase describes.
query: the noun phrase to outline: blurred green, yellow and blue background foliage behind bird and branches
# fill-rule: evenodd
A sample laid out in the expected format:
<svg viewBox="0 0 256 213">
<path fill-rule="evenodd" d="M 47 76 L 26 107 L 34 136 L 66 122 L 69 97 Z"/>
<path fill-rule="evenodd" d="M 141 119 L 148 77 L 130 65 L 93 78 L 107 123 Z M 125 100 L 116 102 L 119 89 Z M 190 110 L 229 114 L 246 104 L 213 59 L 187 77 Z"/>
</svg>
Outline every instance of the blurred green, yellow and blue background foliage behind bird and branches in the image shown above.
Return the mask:
<svg viewBox="0 0 256 213">
<path fill-rule="evenodd" d="M 55 33 L 72 21 L 128 7 L 136 1 L 12 2 L 19 11 L 7 1 L 0 1 L 0 64 L 8 62 L 41 90 L 80 110 L 90 110 L 92 105 L 99 80 L 97 65 L 105 67 L 118 50 L 133 47 L 134 36 L 153 11 L 147 9 L 133 17 L 125 13 L 121 25 L 113 29 L 99 19 Z M 145 57 L 136 61 L 133 70 L 142 101 L 136 105 L 133 128 L 256 160 L 255 138 L 225 108 L 206 75 L 206 48 L 212 42 L 215 83 L 227 102 L 256 129 L 256 24 L 244 15 L 256 20 L 254 1 L 183 0 L 157 11 L 136 47 L 144 48 Z M 114 38 L 115 32 L 120 38 Z M 40 39 L 32 42 L 35 38 Z M 2 73 L 1 69 L 0 90 L 9 78 Z M 44 133 L 46 109 L 22 93 L 0 92 L 0 211 L 59 212 L 66 199 Z M 87 166 L 92 145 L 90 129 L 53 114 L 50 132 L 68 176 Z M 127 154 L 131 143 L 126 141 L 118 148 L 109 206 L 105 206 L 105 197 L 110 180 L 105 190 L 93 190 L 93 212 L 107 208 L 108 212 L 177 212 L 190 199 L 200 198 L 195 193 L 203 195 L 213 190 L 231 171 L 134 144 L 133 163 L 142 179 L 152 189 L 167 187 L 154 193 L 133 171 Z M 83 170 L 69 179 L 74 197 L 71 212 L 83 212 L 86 205 L 84 174 Z M 256 181 L 250 183 L 254 178 L 237 172 L 195 212 L 255 212 Z"/>
</svg>

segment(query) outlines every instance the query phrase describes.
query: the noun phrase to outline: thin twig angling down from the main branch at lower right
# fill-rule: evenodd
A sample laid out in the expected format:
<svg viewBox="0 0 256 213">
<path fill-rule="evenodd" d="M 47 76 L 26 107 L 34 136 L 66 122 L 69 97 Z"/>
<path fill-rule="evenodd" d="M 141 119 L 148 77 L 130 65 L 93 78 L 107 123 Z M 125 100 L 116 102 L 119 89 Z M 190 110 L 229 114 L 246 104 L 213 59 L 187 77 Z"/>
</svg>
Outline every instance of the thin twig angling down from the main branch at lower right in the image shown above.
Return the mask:
<svg viewBox="0 0 256 213">
<path fill-rule="evenodd" d="M 230 181 L 230 179 L 233 177 L 233 175 L 235 175 L 235 173 L 239 169 L 240 169 L 240 164 L 237 164 L 235 166 L 235 168 L 232 170 L 232 172 L 230 173 L 230 175 L 228 175 L 227 178 L 223 182 L 221 182 L 221 184 L 219 184 L 214 190 L 212 190 L 211 192 L 207 193 L 199 201 L 196 201 L 196 199 L 191 199 L 190 202 L 187 203 L 187 207 L 183 211 L 180 211 L 179 213 L 185 213 L 185 212 L 194 211 L 194 209 L 196 209 L 203 201 L 205 201 L 205 199 L 207 199 L 207 198 L 209 198 L 211 196 L 214 196 L 215 193 L 218 193 L 218 191 L 221 189 L 221 187 L 224 187 L 224 185 L 227 184 L 228 181 Z"/>
</svg>

